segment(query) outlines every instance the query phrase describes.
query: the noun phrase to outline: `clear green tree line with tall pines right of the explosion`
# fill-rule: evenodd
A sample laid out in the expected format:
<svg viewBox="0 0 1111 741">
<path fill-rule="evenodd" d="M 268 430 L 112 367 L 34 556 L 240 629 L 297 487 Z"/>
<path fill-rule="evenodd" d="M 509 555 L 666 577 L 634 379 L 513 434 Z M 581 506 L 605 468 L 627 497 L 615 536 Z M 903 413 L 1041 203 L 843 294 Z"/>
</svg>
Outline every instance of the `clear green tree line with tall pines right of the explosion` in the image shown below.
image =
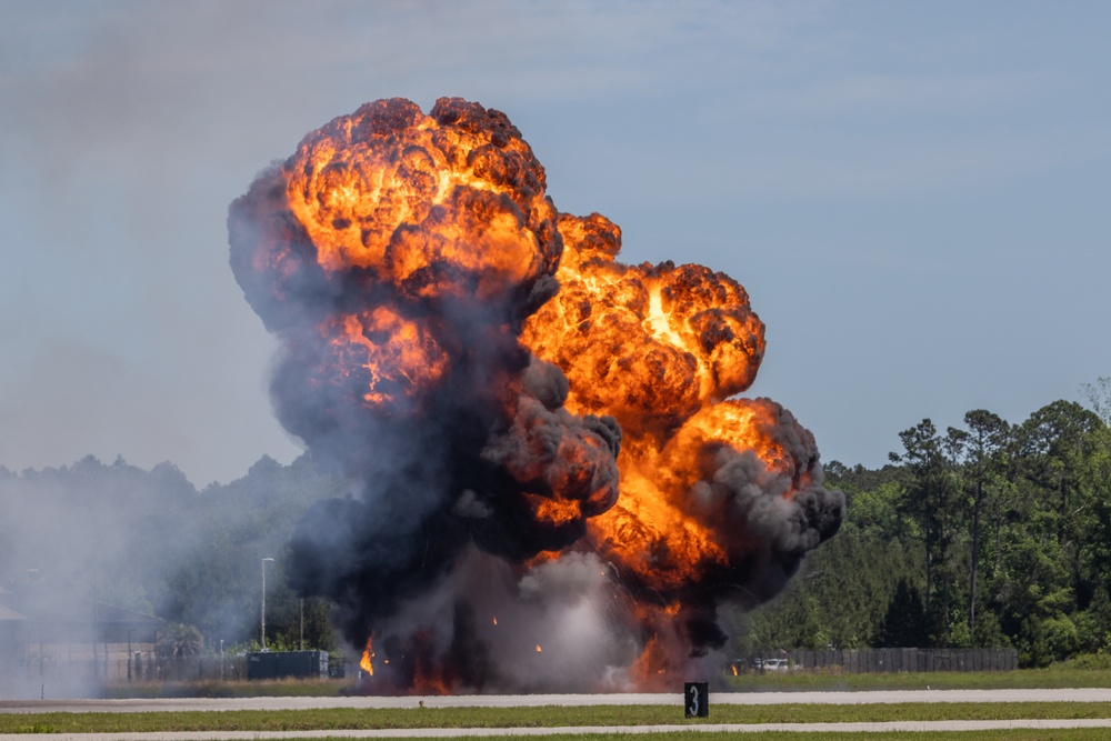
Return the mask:
<svg viewBox="0 0 1111 741">
<path fill-rule="evenodd" d="M 1040 667 L 1111 649 L 1111 379 L 1021 423 L 991 411 L 899 433 L 878 470 L 833 461 L 844 524 L 734 651 L 1003 648 Z"/>
</svg>

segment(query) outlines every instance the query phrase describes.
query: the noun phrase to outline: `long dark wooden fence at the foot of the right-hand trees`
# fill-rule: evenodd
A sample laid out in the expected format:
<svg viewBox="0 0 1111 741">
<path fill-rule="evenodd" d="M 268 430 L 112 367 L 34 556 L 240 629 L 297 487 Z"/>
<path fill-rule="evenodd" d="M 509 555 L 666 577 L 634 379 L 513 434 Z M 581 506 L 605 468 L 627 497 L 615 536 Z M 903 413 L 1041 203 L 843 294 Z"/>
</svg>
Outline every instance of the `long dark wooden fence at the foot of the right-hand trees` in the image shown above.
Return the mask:
<svg viewBox="0 0 1111 741">
<path fill-rule="evenodd" d="M 1015 649 L 828 649 L 825 651 L 761 651 L 749 668 L 760 671 L 765 659 L 787 659 L 797 669 L 838 669 L 850 674 L 931 671 L 1014 671 Z"/>
</svg>

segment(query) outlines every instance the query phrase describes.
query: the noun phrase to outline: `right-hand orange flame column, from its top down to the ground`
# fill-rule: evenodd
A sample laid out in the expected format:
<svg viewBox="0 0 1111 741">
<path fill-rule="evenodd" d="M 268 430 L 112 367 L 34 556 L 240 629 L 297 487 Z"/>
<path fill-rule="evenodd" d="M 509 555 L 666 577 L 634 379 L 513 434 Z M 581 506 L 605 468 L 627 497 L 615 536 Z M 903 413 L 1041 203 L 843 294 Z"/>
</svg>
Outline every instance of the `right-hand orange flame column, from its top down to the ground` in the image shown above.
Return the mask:
<svg viewBox="0 0 1111 741">
<path fill-rule="evenodd" d="M 623 266 L 620 228 L 597 213 L 560 214 L 559 229 L 561 289 L 522 341 L 567 374 L 569 410 L 621 423 L 620 495 L 588 521 L 584 548 L 662 600 L 639 608 L 649 638 L 632 674 L 651 687 L 681 669 L 662 637 L 683 595 L 728 579 L 759 548 L 744 485 L 718 481 L 743 470 L 761 492 L 790 500 L 813 483 L 817 449 L 779 404 L 730 399 L 764 352 L 763 323 L 739 283 L 701 266 Z"/>
</svg>

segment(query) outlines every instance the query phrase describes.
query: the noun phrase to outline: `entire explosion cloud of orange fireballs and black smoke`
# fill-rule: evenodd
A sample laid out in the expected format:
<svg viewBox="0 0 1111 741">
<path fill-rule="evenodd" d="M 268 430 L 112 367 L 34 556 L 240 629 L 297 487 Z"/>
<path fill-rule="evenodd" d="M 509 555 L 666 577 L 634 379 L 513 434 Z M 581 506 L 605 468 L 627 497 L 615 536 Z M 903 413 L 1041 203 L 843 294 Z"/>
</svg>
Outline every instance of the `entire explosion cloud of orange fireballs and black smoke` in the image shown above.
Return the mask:
<svg viewBox="0 0 1111 741">
<path fill-rule="evenodd" d="M 673 681 L 841 522 L 812 435 L 731 398 L 764 348 L 743 288 L 622 266 L 544 190 L 503 113 L 393 99 L 231 206 L 277 413 L 359 487 L 306 514 L 292 585 L 382 690 Z"/>
</svg>

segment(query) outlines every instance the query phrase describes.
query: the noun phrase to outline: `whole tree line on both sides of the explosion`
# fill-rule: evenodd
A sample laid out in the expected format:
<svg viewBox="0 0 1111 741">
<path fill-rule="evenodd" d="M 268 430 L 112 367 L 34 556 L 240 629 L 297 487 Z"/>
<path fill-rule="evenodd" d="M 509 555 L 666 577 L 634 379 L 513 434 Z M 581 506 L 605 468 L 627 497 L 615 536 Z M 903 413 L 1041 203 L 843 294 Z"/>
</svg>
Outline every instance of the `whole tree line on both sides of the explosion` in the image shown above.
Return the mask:
<svg viewBox="0 0 1111 741">
<path fill-rule="evenodd" d="M 923 419 L 879 469 L 828 463 L 841 531 L 781 595 L 729 615 L 728 650 L 1013 647 L 1027 667 L 1111 650 L 1111 379 L 1087 392 L 1019 423 Z M 0 468 L 0 585 L 156 614 L 174 652 L 216 651 L 259 647 L 268 569 L 267 644 L 337 650 L 330 605 L 298 599 L 283 565 L 303 512 L 350 485 L 308 454 L 201 490 L 172 463 Z"/>
</svg>

